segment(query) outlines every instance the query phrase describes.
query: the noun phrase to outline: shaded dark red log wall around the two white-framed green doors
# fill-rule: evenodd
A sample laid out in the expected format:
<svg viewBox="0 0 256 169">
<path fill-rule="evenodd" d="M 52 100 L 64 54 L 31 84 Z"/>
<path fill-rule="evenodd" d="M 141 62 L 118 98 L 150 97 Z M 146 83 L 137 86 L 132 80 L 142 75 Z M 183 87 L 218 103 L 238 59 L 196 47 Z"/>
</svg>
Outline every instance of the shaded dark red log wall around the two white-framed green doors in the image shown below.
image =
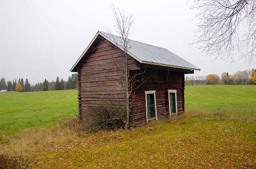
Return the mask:
<svg viewBox="0 0 256 169">
<path fill-rule="evenodd" d="M 158 68 L 158 67 L 156 67 Z M 138 72 L 131 72 L 137 74 Z M 163 76 L 165 78 L 163 79 Z M 162 81 L 164 80 L 164 81 Z M 177 90 L 178 114 L 184 111 L 184 72 L 166 69 L 146 68 L 146 72 L 136 77 L 132 92 L 132 126 L 146 123 L 145 91 L 156 90 L 158 119 L 169 118 L 168 89 Z M 140 86 L 139 86 L 140 85 Z M 137 88 L 137 86 L 139 86 Z"/>
</svg>

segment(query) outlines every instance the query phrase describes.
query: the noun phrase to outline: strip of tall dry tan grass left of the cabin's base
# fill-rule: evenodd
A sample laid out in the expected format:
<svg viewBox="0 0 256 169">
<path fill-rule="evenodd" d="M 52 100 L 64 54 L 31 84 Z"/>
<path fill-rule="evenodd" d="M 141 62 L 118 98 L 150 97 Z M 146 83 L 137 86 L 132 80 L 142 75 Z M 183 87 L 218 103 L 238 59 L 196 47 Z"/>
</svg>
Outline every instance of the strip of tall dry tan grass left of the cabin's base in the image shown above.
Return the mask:
<svg viewBox="0 0 256 169">
<path fill-rule="evenodd" d="M 32 159 L 38 154 L 53 145 L 63 144 L 65 141 L 77 137 L 82 133 L 78 118 L 71 118 L 67 121 L 55 124 L 52 128 L 33 128 L 15 134 L 12 138 L 6 136 L 0 145 L 0 155 L 5 157 L 19 157 L 20 155 Z"/>
</svg>

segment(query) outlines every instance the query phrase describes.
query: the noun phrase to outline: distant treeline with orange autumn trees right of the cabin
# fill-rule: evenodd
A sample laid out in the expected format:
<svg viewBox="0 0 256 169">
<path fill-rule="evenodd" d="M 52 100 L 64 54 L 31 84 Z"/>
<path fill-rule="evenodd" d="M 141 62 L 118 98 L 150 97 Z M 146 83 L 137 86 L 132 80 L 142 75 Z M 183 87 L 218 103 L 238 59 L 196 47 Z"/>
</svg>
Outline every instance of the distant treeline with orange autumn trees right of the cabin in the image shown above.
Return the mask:
<svg viewBox="0 0 256 169">
<path fill-rule="evenodd" d="M 185 85 L 206 85 L 206 84 L 225 84 L 225 85 L 248 85 L 256 84 L 256 69 L 237 71 L 235 74 L 223 72 L 219 77 L 217 74 L 208 74 L 207 76 L 186 77 Z"/>
</svg>

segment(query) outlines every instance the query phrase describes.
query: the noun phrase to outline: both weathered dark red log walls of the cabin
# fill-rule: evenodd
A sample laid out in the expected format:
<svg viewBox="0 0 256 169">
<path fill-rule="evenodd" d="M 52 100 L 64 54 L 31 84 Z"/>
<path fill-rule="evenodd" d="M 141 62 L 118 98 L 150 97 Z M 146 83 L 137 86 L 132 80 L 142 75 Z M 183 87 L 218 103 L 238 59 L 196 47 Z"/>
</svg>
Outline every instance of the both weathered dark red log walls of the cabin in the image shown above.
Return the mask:
<svg viewBox="0 0 256 169">
<path fill-rule="evenodd" d="M 131 125 L 146 123 L 145 91 L 156 90 L 156 108 L 158 119 L 169 117 L 168 89 L 177 90 L 178 113 L 184 111 L 184 72 L 161 66 L 140 64 L 134 58 L 128 58 L 129 78 L 145 72 L 134 79 L 130 96 Z M 80 61 L 78 69 L 79 118 L 86 118 L 89 106 L 108 100 L 123 101 L 124 53 L 110 42 L 101 39 L 91 49 L 91 53 Z M 122 85 L 123 84 L 123 85 Z"/>
</svg>

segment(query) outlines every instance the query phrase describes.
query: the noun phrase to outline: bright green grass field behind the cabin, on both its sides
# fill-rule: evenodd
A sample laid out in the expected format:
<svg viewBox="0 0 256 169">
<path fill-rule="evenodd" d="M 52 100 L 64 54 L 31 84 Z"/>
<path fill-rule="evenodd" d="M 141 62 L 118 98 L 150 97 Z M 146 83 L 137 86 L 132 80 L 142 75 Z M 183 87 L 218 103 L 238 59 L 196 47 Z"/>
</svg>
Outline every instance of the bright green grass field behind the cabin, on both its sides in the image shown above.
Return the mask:
<svg viewBox="0 0 256 169">
<path fill-rule="evenodd" d="M 256 121 L 256 86 L 186 86 L 185 109 Z M 77 90 L 0 93 L 0 133 L 51 125 L 77 111 Z"/>
</svg>

